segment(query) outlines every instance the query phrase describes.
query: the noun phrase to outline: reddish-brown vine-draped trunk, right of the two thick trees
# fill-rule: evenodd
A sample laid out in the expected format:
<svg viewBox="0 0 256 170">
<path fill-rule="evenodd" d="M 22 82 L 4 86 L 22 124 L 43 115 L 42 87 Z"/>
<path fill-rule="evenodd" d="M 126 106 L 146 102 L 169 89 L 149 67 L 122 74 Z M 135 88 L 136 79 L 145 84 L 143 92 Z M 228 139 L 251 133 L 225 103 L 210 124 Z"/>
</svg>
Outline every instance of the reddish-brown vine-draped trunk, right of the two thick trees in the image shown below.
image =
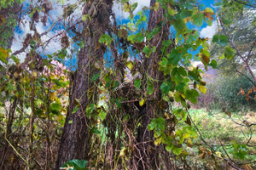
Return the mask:
<svg viewBox="0 0 256 170">
<path fill-rule="evenodd" d="M 153 6 L 155 2 L 155 0 L 151 0 L 150 6 Z M 154 11 L 154 9 L 150 10 L 148 31 L 152 31 L 160 20 L 164 20 L 163 13 L 163 8 L 159 8 L 157 11 Z M 169 26 L 162 26 L 159 34 L 150 42 L 151 47 L 156 47 L 155 52 L 143 61 L 143 67 L 145 68 L 145 71 L 147 71 L 148 76 L 156 80 L 164 79 L 163 73 L 158 71 L 158 61 L 160 60 L 161 43 L 163 40 L 168 39 L 168 34 Z M 161 99 L 160 85 L 161 82 L 154 82 L 154 94 L 148 97 L 146 104 L 140 109 L 142 127 L 139 127 L 137 130 L 137 143 L 140 153 L 136 154 L 138 163 L 137 169 L 139 170 L 160 168 L 160 148 L 154 145 L 154 132 L 148 131 L 148 123 L 150 123 L 151 119 L 154 118 L 155 113 L 157 112 L 157 115 L 161 115 L 161 110 L 158 105 L 158 102 Z"/>
</svg>

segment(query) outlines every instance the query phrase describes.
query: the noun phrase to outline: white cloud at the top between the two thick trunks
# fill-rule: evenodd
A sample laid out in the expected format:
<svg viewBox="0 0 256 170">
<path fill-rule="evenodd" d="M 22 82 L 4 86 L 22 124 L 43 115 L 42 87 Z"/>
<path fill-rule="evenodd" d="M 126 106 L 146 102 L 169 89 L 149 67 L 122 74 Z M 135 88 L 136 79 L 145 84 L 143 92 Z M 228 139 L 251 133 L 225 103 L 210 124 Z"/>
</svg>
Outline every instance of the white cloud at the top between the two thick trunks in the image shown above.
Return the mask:
<svg viewBox="0 0 256 170">
<path fill-rule="evenodd" d="M 138 3 L 137 8 L 134 10 L 133 14 L 137 14 L 140 10 L 142 10 L 143 7 L 149 7 L 150 6 L 150 0 L 130 0 L 130 4 L 132 3 Z M 115 1 L 113 3 L 113 12 L 116 15 L 116 18 L 125 18 L 127 19 L 129 17 L 129 13 L 125 13 L 122 7 L 122 4 Z"/>
</svg>

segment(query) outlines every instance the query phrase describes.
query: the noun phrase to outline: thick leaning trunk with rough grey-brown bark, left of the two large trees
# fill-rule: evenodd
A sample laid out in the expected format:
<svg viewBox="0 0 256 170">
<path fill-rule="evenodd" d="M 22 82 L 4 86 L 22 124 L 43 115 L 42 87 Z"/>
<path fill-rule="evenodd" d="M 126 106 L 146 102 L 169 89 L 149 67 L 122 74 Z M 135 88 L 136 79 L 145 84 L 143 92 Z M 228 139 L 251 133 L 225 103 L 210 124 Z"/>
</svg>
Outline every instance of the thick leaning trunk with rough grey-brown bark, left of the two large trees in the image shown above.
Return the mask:
<svg viewBox="0 0 256 170">
<path fill-rule="evenodd" d="M 104 34 L 109 25 L 109 16 L 112 9 L 112 0 L 95 0 L 86 5 L 84 14 L 92 14 L 91 20 L 84 23 L 84 48 L 79 52 L 78 68 L 72 81 L 70 92 L 70 104 L 67 111 L 67 118 L 62 133 L 61 145 L 55 169 L 69 160 L 87 159 L 90 147 L 90 120 L 85 117 L 86 106 L 96 104 L 96 86 L 91 77 L 100 73 L 98 66 L 102 68 L 102 48 L 97 48 L 99 37 Z M 91 12 L 92 10 L 96 10 Z M 96 64 L 97 63 L 97 64 Z M 89 89 L 94 89 L 94 94 L 88 95 Z M 72 113 L 76 105 L 79 110 Z"/>
</svg>

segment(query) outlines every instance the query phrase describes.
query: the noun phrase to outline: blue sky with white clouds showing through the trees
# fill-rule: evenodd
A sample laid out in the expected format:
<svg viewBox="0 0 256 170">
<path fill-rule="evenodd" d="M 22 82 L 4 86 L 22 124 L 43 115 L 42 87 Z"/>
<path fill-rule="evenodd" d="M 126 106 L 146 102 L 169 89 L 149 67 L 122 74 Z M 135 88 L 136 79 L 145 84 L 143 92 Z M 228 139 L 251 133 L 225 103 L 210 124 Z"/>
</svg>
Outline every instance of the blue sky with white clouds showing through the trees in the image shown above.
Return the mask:
<svg viewBox="0 0 256 170">
<path fill-rule="evenodd" d="M 37 2 L 37 1 L 35 1 Z M 65 31 L 65 28 L 63 26 L 63 23 L 58 21 L 59 17 L 61 17 L 61 14 L 63 12 L 63 8 L 67 7 L 67 4 L 76 4 L 77 0 L 66 0 L 64 3 L 61 3 L 60 0 L 52 0 L 53 2 L 53 10 L 49 12 L 49 20 L 47 21 L 46 26 L 43 26 L 41 22 L 39 22 L 36 27 L 38 30 L 38 33 L 41 34 L 44 31 L 48 31 L 50 26 L 52 24 L 55 24 L 53 29 L 49 31 L 47 35 L 44 37 L 41 37 L 42 42 L 47 42 L 50 37 L 54 37 L 56 34 L 60 33 L 61 31 Z M 138 3 L 137 8 L 134 11 L 134 14 L 137 14 L 138 11 L 140 11 L 144 6 L 149 7 L 150 0 L 130 0 L 131 3 Z M 212 5 L 214 4 L 214 0 L 198 0 L 199 3 L 204 4 L 205 8 L 210 7 L 212 8 Z M 20 23 L 20 28 L 16 27 L 15 29 L 15 41 L 13 42 L 12 45 L 12 51 L 15 52 L 16 50 L 19 50 L 22 48 L 22 42 L 24 38 L 26 37 L 27 33 L 32 33 L 33 31 L 29 30 L 29 16 L 26 14 L 26 10 L 28 7 L 28 4 L 31 3 L 30 0 L 26 0 L 24 2 L 24 14 L 22 15 L 23 22 Z M 214 10 L 214 8 L 212 8 Z M 76 10 L 74 11 L 73 15 L 73 20 L 79 20 L 80 17 L 82 16 L 82 7 L 78 6 Z M 122 7 L 120 3 L 114 3 L 113 4 L 113 12 L 116 14 L 116 19 L 118 20 L 118 24 L 126 24 L 129 21 L 129 14 L 122 12 Z M 191 26 L 189 26 L 191 28 Z M 217 30 L 217 24 L 216 21 L 213 21 L 212 26 L 207 26 L 206 23 L 203 24 L 203 26 L 199 27 L 193 27 L 195 30 L 200 31 L 200 36 L 201 37 L 212 37 Z M 49 43 L 48 46 L 43 50 L 42 48 L 38 49 L 38 53 L 42 55 L 47 55 L 47 54 L 53 54 L 56 52 L 56 50 L 61 49 L 61 41 L 60 41 L 61 36 L 53 38 Z M 71 38 L 70 38 L 71 41 Z M 76 46 L 74 45 L 71 48 L 75 48 Z M 68 54 L 71 54 L 71 48 L 67 48 Z M 26 52 L 29 51 L 29 48 L 26 49 Z M 21 53 L 19 54 L 19 58 L 21 61 L 25 59 L 26 53 Z M 75 56 L 73 56 L 73 59 L 66 59 L 66 65 L 75 65 Z"/>
</svg>

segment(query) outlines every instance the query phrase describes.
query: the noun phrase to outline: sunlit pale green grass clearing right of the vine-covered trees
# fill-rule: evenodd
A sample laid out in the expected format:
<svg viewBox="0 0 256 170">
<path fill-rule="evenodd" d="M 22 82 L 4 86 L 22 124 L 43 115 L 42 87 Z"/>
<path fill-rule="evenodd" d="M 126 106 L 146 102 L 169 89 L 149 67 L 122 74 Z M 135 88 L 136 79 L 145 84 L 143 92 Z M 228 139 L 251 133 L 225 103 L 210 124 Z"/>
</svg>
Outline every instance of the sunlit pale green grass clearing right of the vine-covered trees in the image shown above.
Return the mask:
<svg viewBox="0 0 256 170">
<path fill-rule="evenodd" d="M 189 111 L 189 115 L 200 131 L 202 139 L 204 139 L 207 144 L 212 145 L 212 148 L 215 150 L 213 154 L 217 158 L 227 158 L 230 156 L 234 161 L 248 163 L 251 167 L 256 168 L 255 162 L 253 162 L 256 161 L 255 126 L 251 126 L 250 128 L 242 127 L 232 122 L 230 117 L 222 111 L 211 112 L 212 113 L 209 113 L 204 109 L 192 109 Z M 241 112 L 236 112 L 231 115 L 231 117 L 241 124 L 244 124 L 243 120 L 247 120 L 249 123 L 256 122 L 256 112 L 253 111 L 248 111 L 245 115 Z M 189 152 L 193 153 L 193 151 L 191 152 L 192 149 L 194 150 L 194 154 L 190 155 L 189 159 L 193 160 L 196 156 L 204 157 L 201 155 L 200 150 L 198 150 L 199 147 L 196 145 L 204 145 L 205 148 L 207 148 L 207 145 L 204 144 L 200 138 L 194 139 L 193 143 L 195 145 L 189 149 Z M 243 144 L 245 144 L 245 146 Z M 222 145 L 224 145 L 224 147 Z M 239 146 L 238 151 L 234 148 L 235 145 Z M 194 158 L 191 158 L 191 156 L 194 156 Z M 212 161 L 210 155 L 206 156 L 204 160 L 201 162 L 204 164 L 204 167 L 206 164 L 209 164 L 210 160 Z M 200 161 L 198 161 L 197 168 L 199 168 L 199 165 Z"/>
</svg>

